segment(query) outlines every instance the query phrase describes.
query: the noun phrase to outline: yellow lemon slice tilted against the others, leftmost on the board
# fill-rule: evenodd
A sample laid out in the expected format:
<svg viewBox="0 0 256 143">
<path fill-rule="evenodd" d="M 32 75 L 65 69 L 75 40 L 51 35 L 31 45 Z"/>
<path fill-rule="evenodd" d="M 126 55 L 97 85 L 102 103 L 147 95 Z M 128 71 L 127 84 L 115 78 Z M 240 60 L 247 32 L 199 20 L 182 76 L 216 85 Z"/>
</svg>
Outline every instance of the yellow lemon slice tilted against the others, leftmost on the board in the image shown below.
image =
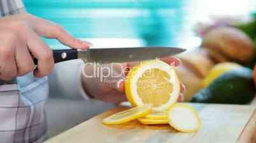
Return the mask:
<svg viewBox="0 0 256 143">
<path fill-rule="evenodd" d="M 145 104 L 143 106 L 138 106 L 136 108 L 127 109 L 114 115 L 108 116 L 103 120 L 103 123 L 106 125 L 120 124 L 127 121 L 140 118 L 142 116 L 148 115 L 152 111 L 152 105 Z"/>
</svg>

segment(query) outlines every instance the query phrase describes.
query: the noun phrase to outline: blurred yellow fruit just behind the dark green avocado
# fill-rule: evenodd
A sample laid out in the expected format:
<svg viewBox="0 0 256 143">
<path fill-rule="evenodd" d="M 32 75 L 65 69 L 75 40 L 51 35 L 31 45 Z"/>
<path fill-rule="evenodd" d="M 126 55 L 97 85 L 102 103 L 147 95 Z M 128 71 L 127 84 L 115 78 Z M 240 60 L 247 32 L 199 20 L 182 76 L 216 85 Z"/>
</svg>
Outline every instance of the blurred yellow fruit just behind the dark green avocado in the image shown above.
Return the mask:
<svg viewBox="0 0 256 143">
<path fill-rule="evenodd" d="M 208 85 L 213 82 L 217 77 L 225 73 L 225 71 L 235 70 L 236 68 L 241 68 L 242 66 L 237 63 L 218 63 L 217 65 L 213 66 L 210 73 L 204 78 L 202 82 L 203 87 L 207 87 Z"/>
</svg>

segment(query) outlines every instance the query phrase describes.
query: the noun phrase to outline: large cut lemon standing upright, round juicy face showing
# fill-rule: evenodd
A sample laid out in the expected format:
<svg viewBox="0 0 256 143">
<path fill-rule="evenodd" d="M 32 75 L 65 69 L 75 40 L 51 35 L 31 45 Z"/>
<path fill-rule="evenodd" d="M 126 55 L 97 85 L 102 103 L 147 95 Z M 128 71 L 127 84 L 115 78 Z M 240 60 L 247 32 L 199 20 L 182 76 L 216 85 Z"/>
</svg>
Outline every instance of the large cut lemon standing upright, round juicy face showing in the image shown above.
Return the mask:
<svg viewBox="0 0 256 143">
<path fill-rule="evenodd" d="M 163 111 L 176 103 L 179 93 L 174 68 L 159 60 L 134 66 L 125 80 L 125 94 L 132 106 L 152 104 L 153 111 Z"/>
</svg>

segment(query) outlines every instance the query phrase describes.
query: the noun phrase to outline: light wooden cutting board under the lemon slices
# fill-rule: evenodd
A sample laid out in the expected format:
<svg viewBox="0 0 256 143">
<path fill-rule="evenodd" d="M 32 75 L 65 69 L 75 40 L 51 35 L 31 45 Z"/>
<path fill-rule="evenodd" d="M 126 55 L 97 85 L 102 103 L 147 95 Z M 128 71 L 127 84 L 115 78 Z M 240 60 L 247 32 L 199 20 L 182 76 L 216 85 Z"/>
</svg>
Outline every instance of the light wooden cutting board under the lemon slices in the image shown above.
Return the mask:
<svg viewBox="0 0 256 143">
<path fill-rule="evenodd" d="M 255 142 L 256 113 L 253 106 L 225 104 L 190 104 L 199 112 L 203 127 L 197 133 L 177 132 L 169 125 L 141 125 L 130 121 L 122 125 L 103 125 L 113 113 L 127 109 L 119 106 L 45 143 L 235 143 Z"/>
</svg>

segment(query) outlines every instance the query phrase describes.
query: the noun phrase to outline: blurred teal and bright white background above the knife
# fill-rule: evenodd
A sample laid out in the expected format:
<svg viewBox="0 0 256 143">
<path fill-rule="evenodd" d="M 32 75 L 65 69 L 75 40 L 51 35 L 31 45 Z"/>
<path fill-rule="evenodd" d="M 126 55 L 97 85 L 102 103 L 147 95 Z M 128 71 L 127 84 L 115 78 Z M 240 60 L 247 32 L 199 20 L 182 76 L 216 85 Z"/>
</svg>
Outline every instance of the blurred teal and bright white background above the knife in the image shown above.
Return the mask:
<svg viewBox="0 0 256 143">
<path fill-rule="evenodd" d="M 60 23 L 95 47 L 199 46 L 194 25 L 211 15 L 248 15 L 255 2 L 202 0 L 24 0 L 29 13 Z M 56 45 L 56 40 L 46 40 Z M 66 48 L 52 46 L 53 49 Z"/>
</svg>

